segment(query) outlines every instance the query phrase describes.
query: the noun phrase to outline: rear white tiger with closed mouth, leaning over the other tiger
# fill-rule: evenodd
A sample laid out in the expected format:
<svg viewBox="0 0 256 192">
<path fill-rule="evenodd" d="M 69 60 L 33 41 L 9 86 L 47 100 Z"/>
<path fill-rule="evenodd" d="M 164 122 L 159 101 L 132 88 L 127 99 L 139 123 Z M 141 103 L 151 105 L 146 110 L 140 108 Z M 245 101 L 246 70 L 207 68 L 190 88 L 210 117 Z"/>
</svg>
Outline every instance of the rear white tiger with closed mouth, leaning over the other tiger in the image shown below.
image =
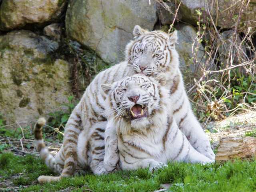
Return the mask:
<svg viewBox="0 0 256 192">
<path fill-rule="evenodd" d="M 104 117 L 106 94 L 102 91 L 100 85 L 102 83 L 111 84 L 136 73 L 144 73 L 147 76 L 154 76 L 162 82 L 166 81 L 165 87 L 170 90 L 170 95 L 174 101 L 174 118 L 182 132 L 198 152 L 214 159 L 210 142 L 190 109 L 178 68 L 178 53 L 174 45 L 177 40 L 176 32 L 170 35 L 162 31 L 148 32 L 139 26 L 135 26 L 134 38 L 127 45 L 126 61 L 100 72 L 86 88 L 80 102 L 70 115 L 65 127 L 63 153 L 60 154 L 64 161 L 59 169 L 62 170 L 60 178 L 74 174 L 77 159 L 84 159 L 84 162 L 88 162 L 88 159 L 92 158 L 90 166 L 95 174 L 106 171 L 102 168 L 103 158 L 98 158 L 98 156 L 104 155 L 104 135 L 102 136 L 104 129 L 100 127 L 102 122 L 106 122 Z M 89 133 L 94 130 L 92 127 L 97 126 L 99 128 L 95 129 L 95 134 L 91 134 L 93 138 L 88 138 L 84 142 L 86 149 L 80 153 L 81 150 L 78 150 L 77 144 L 81 131 Z M 101 137 L 98 135 L 101 135 Z M 91 145 L 91 140 L 95 138 L 97 138 L 97 142 Z M 39 141 L 38 145 L 42 145 L 42 142 Z M 39 149 L 42 149 L 42 147 L 39 147 Z M 92 151 L 92 156 L 88 156 L 86 153 L 88 149 Z M 42 153 L 41 156 L 46 160 L 45 153 Z M 54 164 L 54 161 L 55 159 L 52 160 L 52 164 Z M 51 179 L 53 178 L 49 178 L 49 180 L 45 178 L 46 181 Z"/>
</svg>

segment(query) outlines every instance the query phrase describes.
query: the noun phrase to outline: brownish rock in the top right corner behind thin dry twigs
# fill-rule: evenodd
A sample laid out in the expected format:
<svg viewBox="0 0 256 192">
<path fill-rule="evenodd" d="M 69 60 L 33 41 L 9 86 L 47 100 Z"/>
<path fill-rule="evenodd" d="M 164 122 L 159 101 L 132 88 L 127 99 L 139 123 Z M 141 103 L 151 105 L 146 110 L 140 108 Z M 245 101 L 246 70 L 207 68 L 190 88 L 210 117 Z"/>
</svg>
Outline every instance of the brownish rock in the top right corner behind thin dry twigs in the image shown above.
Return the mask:
<svg viewBox="0 0 256 192">
<path fill-rule="evenodd" d="M 172 2 L 175 3 L 176 0 L 172 0 Z M 232 28 L 236 25 L 238 13 L 242 7 L 243 13 L 239 21 L 240 31 L 248 30 L 249 26 L 252 27 L 252 31 L 256 30 L 256 0 L 251 0 L 247 7 L 247 1 L 241 0 L 178 0 L 177 4 L 180 2 L 182 2 L 182 4 L 179 12 L 182 14 L 182 20 L 190 24 L 197 24 L 197 10 L 200 10 L 202 13 L 201 18 L 204 18 L 201 22 L 211 22 L 211 15 L 216 26 Z M 216 8 L 218 8 L 218 11 Z"/>
</svg>

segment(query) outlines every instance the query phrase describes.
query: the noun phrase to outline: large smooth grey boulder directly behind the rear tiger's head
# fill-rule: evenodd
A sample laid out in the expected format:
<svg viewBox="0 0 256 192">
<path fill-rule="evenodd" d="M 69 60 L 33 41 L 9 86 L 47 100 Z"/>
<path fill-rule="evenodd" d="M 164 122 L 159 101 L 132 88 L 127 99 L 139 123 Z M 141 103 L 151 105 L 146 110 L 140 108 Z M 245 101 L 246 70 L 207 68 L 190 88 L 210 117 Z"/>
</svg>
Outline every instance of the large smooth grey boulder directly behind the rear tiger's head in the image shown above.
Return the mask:
<svg viewBox="0 0 256 192">
<path fill-rule="evenodd" d="M 68 5 L 66 33 L 106 62 L 117 63 L 124 59 L 134 26 L 152 30 L 156 20 L 152 0 L 151 5 L 147 0 L 76 0 Z"/>
</svg>

